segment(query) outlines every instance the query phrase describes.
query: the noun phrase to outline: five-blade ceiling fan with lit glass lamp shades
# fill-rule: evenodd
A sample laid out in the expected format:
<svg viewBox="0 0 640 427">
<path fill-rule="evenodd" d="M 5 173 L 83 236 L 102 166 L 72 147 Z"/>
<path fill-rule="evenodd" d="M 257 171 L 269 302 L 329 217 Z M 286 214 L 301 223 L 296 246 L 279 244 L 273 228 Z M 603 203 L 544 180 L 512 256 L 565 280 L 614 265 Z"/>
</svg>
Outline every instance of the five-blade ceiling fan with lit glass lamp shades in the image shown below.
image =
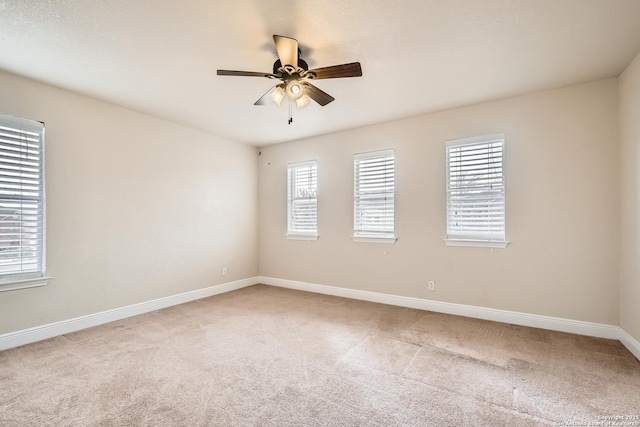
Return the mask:
<svg viewBox="0 0 640 427">
<path fill-rule="evenodd" d="M 284 97 L 288 96 L 298 108 L 304 108 L 312 99 L 321 106 L 325 106 L 335 98 L 312 85 L 310 80 L 362 76 L 359 62 L 309 70 L 307 63 L 300 58 L 296 39 L 274 35 L 273 41 L 276 44 L 279 59 L 273 63 L 272 73 L 218 70 L 219 76 L 267 77 L 282 80 L 282 83 L 269 89 L 254 105 L 266 105 L 270 101 L 280 105 Z M 291 119 L 289 120 L 291 122 Z"/>
</svg>

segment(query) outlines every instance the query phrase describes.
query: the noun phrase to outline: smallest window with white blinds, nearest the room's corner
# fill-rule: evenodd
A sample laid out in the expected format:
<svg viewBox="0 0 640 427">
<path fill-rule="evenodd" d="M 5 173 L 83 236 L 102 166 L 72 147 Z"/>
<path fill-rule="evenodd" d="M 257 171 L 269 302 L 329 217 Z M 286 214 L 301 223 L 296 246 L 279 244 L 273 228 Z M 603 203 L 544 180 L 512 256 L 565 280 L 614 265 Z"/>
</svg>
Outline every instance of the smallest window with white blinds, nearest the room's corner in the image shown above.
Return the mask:
<svg viewBox="0 0 640 427">
<path fill-rule="evenodd" d="M 290 163 L 287 180 L 287 237 L 318 238 L 318 165 L 315 160 Z"/>
</svg>

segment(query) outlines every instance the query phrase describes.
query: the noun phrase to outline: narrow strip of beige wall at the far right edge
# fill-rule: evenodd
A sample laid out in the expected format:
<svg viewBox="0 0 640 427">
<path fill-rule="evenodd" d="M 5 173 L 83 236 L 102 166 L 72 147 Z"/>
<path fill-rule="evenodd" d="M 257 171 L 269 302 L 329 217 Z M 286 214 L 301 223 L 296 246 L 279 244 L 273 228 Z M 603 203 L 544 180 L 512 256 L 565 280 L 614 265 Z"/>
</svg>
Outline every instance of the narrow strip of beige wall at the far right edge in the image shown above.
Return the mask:
<svg viewBox="0 0 640 427">
<path fill-rule="evenodd" d="M 620 76 L 620 325 L 640 341 L 640 55 Z"/>
</svg>

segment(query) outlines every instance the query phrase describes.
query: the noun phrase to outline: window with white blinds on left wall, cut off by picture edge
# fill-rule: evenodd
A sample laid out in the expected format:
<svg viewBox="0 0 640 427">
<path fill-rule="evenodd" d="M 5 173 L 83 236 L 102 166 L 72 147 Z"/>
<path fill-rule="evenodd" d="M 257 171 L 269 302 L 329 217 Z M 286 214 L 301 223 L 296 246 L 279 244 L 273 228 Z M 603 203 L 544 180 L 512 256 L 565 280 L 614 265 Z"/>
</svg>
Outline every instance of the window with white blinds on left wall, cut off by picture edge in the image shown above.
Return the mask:
<svg viewBox="0 0 640 427">
<path fill-rule="evenodd" d="M 0 114 L 0 290 L 42 286 L 44 125 Z"/>
</svg>

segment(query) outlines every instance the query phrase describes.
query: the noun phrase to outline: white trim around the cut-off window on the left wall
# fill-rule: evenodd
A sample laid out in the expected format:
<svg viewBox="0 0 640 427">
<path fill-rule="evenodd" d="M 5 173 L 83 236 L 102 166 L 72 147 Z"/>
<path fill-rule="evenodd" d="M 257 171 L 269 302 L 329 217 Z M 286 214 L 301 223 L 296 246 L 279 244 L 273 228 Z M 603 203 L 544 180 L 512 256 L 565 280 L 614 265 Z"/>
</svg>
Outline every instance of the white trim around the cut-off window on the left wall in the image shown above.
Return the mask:
<svg viewBox="0 0 640 427">
<path fill-rule="evenodd" d="M 45 180 L 45 171 L 46 171 L 46 159 L 45 159 L 45 128 L 44 123 L 37 122 L 35 120 L 24 119 L 20 117 L 14 117 L 7 114 L 1 114 L 3 116 L 3 120 L 5 123 L 10 123 L 13 126 L 19 126 L 23 129 L 31 129 L 36 132 L 40 132 L 40 136 L 42 138 L 41 143 L 41 180 L 42 180 L 42 248 L 41 248 L 41 267 L 40 272 L 28 272 L 28 273 L 17 273 L 12 275 L 7 275 L 4 277 L 0 277 L 0 292 L 5 291 L 15 291 L 19 289 L 28 289 L 46 286 L 49 284 L 49 281 L 52 279 L 50 276 L 46 276 L 46 238 L 47 238 L 47 229 L 46 229 L 46 180 Z"/>
</svg>

